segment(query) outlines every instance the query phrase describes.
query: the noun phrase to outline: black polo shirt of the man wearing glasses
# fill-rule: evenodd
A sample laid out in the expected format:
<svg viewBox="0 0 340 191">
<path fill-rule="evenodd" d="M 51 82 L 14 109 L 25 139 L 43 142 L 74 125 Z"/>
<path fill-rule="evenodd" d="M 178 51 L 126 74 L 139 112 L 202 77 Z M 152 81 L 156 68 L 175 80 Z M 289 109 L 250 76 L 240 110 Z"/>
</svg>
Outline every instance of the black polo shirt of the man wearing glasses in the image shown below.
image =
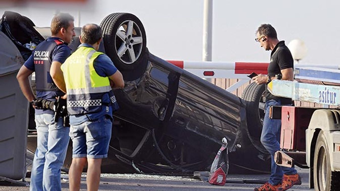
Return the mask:
<svg viewBox="0 0 340 191">
<path fill-rule="evenodd" d="M 281 70 L 287 68 L 293 68 L 293 57 L 288 47 L 285 45 L 285 41 L 280 41 L 276 44 L 270 55 L 270 63 L 268 65 L 268 75 L 275 77 L 276 74 L 282 74 Z M 266 100 L 281 100 L 281 104 L 292 103 L 291 98 L 273 96 L 267 89 L 266 86 Z"/>
</svg>

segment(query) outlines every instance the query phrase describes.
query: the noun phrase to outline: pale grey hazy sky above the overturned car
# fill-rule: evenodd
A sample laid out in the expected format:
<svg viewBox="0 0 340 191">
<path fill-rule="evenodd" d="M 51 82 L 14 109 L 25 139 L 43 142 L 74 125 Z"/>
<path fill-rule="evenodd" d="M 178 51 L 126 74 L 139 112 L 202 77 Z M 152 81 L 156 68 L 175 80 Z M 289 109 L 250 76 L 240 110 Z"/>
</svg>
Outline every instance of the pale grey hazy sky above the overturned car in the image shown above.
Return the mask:
<svg viewBox="0 0 340 191">
<path fill-rule="evenodd" d="M 4 3 L 0 14 L 15 11 L 36 26 L 49 26 L 56 12 L 70 13 L 80 26 L 111 13 L 136 15 L 146 30 L 149 51 L 165 60 L 202 60 L 203 0 L 87 0 L 87 3 Z M 270 52 L 255 42 L 262 23 L 288 44 L 301 39 L 307 54 L 300 63 L 340 64 L 340 1 L 213 0 L 212 61 L 268 62 Z"/>
</svg>

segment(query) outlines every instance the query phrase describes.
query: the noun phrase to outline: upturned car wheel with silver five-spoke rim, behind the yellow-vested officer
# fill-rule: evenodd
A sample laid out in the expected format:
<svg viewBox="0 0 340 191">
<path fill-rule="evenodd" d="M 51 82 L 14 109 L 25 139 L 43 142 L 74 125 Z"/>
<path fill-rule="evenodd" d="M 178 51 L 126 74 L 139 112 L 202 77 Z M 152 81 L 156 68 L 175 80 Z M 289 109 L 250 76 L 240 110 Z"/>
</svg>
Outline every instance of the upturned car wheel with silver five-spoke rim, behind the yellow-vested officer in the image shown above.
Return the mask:
<svg viewBox="0 0 340 191">
<path fill-rule="evenodd" d="M 100 23 L 106 54 L 119 71 L 128 74 L 146 65 L 146 35 L 141 21 L 130 13 L 113 13 Z M 143 67 L 145 68 L 145 67 Z M 125 77 L 125 76 L 124 76 Z M 125 78 L 124 78 L 125 79 Z"/>
</svg>

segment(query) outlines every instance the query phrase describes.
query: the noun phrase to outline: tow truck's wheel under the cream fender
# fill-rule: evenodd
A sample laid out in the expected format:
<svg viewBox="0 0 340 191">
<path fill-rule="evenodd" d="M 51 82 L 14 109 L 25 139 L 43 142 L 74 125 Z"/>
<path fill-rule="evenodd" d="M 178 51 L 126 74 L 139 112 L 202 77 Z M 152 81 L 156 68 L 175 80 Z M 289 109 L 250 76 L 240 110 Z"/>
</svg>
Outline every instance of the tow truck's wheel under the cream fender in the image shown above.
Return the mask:
<svg viewBox="0 0 340 191">
<path fill-rule="evenodd" d="M 339 172 L 330 168 L 329 149 L 323 131 L 320 131 L 314 150 L 314 189 L 316 191 L 336 191 L 340 187 Z"/>
</svg>

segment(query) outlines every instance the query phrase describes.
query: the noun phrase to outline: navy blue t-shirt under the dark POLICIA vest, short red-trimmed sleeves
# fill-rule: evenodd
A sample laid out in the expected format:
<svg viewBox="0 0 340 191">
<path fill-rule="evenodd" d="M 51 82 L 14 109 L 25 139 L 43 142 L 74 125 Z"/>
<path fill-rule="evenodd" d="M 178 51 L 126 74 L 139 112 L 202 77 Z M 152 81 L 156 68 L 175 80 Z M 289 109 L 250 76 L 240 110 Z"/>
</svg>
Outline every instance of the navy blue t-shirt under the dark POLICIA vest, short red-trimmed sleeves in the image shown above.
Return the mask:
<svg viewBox="0 0 340 191">
<path fill-rule="evenodd" d="M 58 37 L 49 37 L 47 38 L 47 41 L 54 41 L 58 39 L 61 40 Z M 64 63 L 66 58 L 69 57 L 70 54 L 71 54 L 71 49 L 66 44 L 56 46 L 52 52 L 52 62 L 57 61 L 60 63 Z M 26 60 L 24 65 L 26 66 L 27 69 L 35 71 L 33 54 Z M 35 75 L 39 75 L 39 74 L 35 74 Z M 55 97 L 64 95 L 64 93 L 55 92 L 55 91 L 37 91 L 36 93 L 37 93 L 37 96 L 36 96 L 37 98 L 48 99 L 48 100 L 56 100 Z M 36 115 L 44 114 L 44 113 L 54 114 L 54 111 L 40 110 L 40 109 L 35 110 Z"/>
</svg>

